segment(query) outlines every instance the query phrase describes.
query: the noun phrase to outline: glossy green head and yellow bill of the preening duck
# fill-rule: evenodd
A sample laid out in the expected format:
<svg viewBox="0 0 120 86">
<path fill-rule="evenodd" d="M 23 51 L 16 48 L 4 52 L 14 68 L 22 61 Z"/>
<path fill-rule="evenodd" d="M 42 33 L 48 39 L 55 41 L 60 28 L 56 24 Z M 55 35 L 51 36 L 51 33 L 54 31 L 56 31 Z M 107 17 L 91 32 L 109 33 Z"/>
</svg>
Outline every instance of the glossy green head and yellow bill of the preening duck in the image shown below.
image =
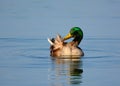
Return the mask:
<svg viewBox="0 0 120 86">
<path fill-rule="evenodd" d="M 83 31 L 79 27 L 73 27 L 71 28 L 70 32 L 64 37 L 64 40 L 67 40 L 69 38 L 76 38 L 77 40 L 82 40 L 83 38 Z"/>
</svg>

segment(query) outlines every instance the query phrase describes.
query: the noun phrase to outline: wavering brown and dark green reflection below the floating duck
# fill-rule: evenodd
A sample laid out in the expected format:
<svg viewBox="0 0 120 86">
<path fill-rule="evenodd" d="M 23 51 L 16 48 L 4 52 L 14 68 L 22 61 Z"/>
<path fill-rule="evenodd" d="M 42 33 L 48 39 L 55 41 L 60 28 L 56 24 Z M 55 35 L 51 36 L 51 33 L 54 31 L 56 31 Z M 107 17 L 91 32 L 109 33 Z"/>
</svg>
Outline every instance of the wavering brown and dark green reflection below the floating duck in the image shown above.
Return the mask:
<svg viewBox="0 0 120 86">
<path fill-rule="evenodd" d="M 82 61 L 80 59 L 52 59 L 49 80 L 51 86 L 66 86 L 82 82 Z"/>
</svg>

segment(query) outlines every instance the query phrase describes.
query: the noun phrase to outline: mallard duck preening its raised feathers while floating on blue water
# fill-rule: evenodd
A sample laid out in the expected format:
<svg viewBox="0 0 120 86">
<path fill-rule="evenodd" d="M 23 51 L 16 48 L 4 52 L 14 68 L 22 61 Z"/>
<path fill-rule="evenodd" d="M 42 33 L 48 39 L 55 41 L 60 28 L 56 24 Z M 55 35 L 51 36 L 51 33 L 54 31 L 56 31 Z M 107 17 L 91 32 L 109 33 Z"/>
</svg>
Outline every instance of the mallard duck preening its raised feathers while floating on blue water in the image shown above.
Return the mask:
<svg viewBox="0 0 120 86">
<path fill-rule="evenodd" d="M 65 40 L 74 38 L 71 42 L 65 42 Z M 84 53 L 78 45 L 83 39 L 83 31 L 79 27 L 73 27 L 65 37 L 57 35 L 56 38 L 49 39 L 50 55 L 52 57 L 64 57 L 64 56 L 83 56 Z"/>
</svg>

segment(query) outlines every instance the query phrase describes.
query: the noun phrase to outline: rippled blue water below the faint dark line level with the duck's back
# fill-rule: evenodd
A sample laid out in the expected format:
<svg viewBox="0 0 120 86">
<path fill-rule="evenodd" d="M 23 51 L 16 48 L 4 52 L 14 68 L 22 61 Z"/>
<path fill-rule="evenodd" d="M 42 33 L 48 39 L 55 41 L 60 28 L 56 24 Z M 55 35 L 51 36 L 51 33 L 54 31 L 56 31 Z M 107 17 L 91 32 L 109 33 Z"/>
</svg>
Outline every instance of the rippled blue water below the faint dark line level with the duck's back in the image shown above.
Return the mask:
<svg viewBox="0 0 120 86">
<path fill-rule="evenodd" d="M 86 38 L 80 60 L 55 60 L 46 39 L 0 38 L 0 85 L 117 86 L 119 43 L 120 39 Z"/>
</svg>

